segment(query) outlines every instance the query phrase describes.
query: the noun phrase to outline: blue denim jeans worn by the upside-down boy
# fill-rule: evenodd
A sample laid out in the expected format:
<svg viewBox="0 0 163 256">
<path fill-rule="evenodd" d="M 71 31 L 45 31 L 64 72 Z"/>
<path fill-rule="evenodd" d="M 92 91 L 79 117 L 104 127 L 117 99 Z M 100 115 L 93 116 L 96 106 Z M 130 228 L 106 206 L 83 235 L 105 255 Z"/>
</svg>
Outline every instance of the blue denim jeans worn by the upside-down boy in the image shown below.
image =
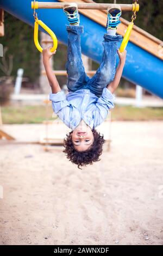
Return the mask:
<svg viewBox="0 0 163 256">
<path fill-rule="evenodd" d="M 100 97 L 103 88 L 114 80 L 116 71 L 117 42 L 122 41 L 121 35 L 104 34 L 102 63 L 92 78 L 88 77 L 82 62 L 80 35 L 84 32 L 83 26 L 67 26 L 67 88 L 68 92 L 80 89 L 89 89 L 91 93 Z"/>
</svg>

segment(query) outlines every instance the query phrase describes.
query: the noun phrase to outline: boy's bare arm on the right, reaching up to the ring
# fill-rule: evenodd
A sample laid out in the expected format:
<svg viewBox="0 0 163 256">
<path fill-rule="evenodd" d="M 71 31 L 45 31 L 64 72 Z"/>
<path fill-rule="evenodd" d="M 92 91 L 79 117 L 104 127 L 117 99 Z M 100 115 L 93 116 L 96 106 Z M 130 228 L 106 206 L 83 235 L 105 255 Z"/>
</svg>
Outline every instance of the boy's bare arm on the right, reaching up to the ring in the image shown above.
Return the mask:
<svg viewBox="0 0 163 256">
<path fill-rule="evenodd" d="M 114 80 L 110 84 L 108 84 L 108 86 L 107 86 L 107 88 L 110 90 L 111 93 L 115 92 L 115 90 L 118 87 L 118 84 L 120 83 L 123 68 L 124 68 L 124 64 L 126 62 L 126 53 L 127 53 L 126 50 L 124 50 L 124 52 L 120 52 L 120 50 L 118 50 L 118 55 L 119 55 L 119 58 L 120 58 L 120 62 L 117 66 L 117 70 L 116 70 Z"/>
</svg>

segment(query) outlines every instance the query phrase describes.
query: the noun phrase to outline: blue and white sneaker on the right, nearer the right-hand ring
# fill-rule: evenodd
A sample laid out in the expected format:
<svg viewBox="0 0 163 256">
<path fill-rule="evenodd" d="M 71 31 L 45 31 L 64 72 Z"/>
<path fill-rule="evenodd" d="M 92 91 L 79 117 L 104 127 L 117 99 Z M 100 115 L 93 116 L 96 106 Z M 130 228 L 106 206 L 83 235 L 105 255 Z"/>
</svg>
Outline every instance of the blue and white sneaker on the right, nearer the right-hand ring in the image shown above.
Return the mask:
<svg viewBox="0 0 163 256">
<path fill-rule="evenodd" d="M 118 25 L 121 23 L 120 17 L 122 15 L 120 5 L 116 5 L 114 8 L 109 7 L 107 10 L 107 22 L 106 28 L 117 29 Z"/>
</svg>

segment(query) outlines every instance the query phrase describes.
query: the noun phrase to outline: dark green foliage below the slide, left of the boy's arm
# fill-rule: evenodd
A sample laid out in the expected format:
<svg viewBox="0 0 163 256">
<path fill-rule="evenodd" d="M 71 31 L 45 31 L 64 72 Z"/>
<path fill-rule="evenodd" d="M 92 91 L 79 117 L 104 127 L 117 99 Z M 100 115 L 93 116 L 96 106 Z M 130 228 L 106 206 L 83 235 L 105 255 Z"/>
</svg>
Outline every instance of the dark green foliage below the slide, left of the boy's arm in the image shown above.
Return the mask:
<svg viewBox="0 0 163 256">
<path fill-rule="evenodd" d="M 24 77 L 35 82 L 39 77 L 40 54 L 33 42 L 33 28 L 5 12 L 5 35 L 0 39 L 3 46 L 8 47 L 7 56 L 13 56 L 14 66 L 12 76 L 17 69 L 24 69 Z M 0 70 L 0 76 L 4 73 Z"/>
</svg>

